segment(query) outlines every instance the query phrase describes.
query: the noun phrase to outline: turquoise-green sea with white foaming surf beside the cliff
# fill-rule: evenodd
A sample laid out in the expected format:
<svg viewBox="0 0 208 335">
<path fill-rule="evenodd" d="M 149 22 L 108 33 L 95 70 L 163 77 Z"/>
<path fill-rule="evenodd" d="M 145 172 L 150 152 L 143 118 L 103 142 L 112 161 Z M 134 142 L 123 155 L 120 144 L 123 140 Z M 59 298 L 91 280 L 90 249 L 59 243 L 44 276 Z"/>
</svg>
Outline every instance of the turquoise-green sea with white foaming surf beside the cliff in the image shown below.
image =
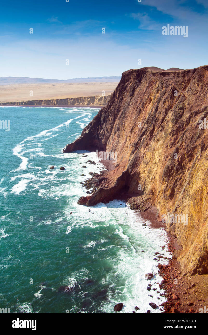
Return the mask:
<svg viewBox="0 0 208 335">
<path fill-rule="evenodd" d="M 120 313 L 144 313 L 165 301 L 144 278 L 157 272 L 156 251 L 169 256 L 160 247 L 165 232 L 142 226 L 125 202 L 77 205 L 86 194 L 80 182 L 103 165 L 95 152 L 62 149 L 97 112 L 0 107 L 0 119 L 10 120 L 9 131 L 0 129 L 0 308 L 10 313 L 114 313 L 119 302 Z M 156 274 L 152 288 L 161 279 Z"/>
</svg>

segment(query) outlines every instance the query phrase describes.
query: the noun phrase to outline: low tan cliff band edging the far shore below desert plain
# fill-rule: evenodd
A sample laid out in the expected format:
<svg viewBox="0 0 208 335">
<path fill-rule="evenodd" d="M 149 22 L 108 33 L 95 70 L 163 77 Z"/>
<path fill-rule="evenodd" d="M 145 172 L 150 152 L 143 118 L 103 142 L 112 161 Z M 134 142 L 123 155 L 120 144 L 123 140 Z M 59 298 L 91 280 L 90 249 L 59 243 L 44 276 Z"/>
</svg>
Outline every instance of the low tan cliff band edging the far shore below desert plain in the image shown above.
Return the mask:
<svg viewBox="0 0 208 335">
<path fill-rule="evenodd" d="M 78 98 L 65 98 L 65 99 L 48 99 L 48 100 L 27 100 L 16 101 L 10 103 L 0 103 L 4 106 L 105 106 L 108 103 L 110 95 L 106 96 L 83 96 Z"/>
</svg>

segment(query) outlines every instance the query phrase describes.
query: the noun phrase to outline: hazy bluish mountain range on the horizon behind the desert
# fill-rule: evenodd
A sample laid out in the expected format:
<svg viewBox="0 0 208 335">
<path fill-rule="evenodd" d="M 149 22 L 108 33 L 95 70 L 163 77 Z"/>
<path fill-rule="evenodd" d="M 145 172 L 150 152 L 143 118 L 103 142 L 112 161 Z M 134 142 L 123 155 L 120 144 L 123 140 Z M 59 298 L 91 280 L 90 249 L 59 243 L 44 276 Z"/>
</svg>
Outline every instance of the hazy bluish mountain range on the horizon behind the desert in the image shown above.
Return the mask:
<svg viewBox="0 0 208 335">
<path fill-rule="evenodd" d="M 29 78 L 29 77 L 0 77 L 0 85 L 10 84 L 50 84 L 50 83 L 81 83 L 81 82 L 119 82 L 121 77 L 88 77 L 67 80 Z"/>
</svg>

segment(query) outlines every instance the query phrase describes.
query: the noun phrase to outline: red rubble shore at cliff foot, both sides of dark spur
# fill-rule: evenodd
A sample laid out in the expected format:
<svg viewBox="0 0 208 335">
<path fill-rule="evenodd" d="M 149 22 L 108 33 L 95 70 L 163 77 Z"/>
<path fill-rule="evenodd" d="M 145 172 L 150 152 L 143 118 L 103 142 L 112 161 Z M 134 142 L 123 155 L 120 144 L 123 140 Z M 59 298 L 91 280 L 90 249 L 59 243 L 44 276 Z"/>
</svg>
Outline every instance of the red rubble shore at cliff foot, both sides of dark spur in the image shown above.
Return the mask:
<svg viewBox="0 0 208 335">
<path fill-rule="evenodd" d="M 114 174 L 115 165 L 112 161 L 100 160 L 100 162 L 105 165 L 106 170 L 95 177 L 96 180 L 100 180 L 99 187 L 105 188 L 108 187 L 109 172 Z M 88 185 L 94 186 L 93 178 L 88 179 Z M 96 183 L 95 186 L 97 187 L 98 184 Z M 181 250 L 182 247 L 177 238 L 166 230 L 165 223 L 162 223 L 158 218 L 154 195 L 138 196 L 124 191 L 117 194 L 114 199 L 126 201 L 130 205 L 130 209 L 134 210 L 135 215 L 139 213 L 145 221 L 151 222 L 151 229 L 162 228 L 167 234 L 166 251 L 170 252 L 172 258 L 168 259 L 167 265 L 161 265 L 159 258 L 157 266 L 158 273 L 163 278 L 160 289 L 165 291 L 161 295 L 166 298 L 166 302 L 159 306 L 161 313 L 199 313 L 200 309 L 204 310 L 204 306 L 208 306 L 208 298 L 206 298 L 208 290 L 205 289 L 208 286 L 208 275 L 197 275 L 197 277 L 182 275 L 180 264 L 174 256 L 175 251 Z M 103 202 L 105 203 L 105 201 Z"/>
</svg>

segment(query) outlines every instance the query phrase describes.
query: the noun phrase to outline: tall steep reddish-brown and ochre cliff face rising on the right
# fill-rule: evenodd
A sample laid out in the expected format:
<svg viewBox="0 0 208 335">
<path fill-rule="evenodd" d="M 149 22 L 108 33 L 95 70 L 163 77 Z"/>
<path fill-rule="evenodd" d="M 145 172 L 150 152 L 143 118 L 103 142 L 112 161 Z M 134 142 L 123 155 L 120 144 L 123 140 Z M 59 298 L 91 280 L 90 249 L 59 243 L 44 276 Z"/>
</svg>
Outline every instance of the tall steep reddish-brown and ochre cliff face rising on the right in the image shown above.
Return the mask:
<svg viewBox="0 0 208 335">
<path fill-rule="evenodd" d="M 166 229 L 183 247 L 176 257 L 183 272 L 191 274 L 208 273 L 208 130 L 199 128 L 205 119 L 207 65 L 129 70 L 108 105 L 63 150 L 117 152 L 106 188 L 87 196 L 86 205 L 112 199 L 128 187 L 129 194 L 154 195 L 161 218 L 168 212 L 188 214 L 188 224 L 170 222 Z"/>
</svg>

